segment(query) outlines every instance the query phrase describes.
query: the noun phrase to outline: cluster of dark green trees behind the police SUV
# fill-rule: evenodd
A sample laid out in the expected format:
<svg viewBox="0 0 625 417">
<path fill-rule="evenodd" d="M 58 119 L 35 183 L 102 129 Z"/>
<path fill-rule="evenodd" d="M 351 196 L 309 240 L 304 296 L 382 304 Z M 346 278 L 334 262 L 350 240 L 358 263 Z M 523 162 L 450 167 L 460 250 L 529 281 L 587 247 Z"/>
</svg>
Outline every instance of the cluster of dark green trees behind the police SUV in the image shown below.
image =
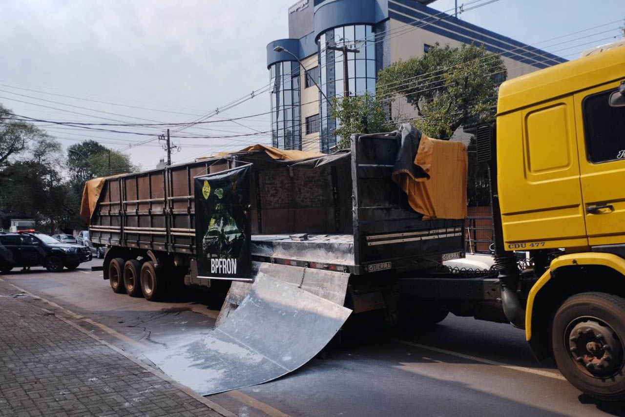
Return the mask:
<svg viewBox="0 0 625 417">
<path fill-rule="evenodd" d="M 109 149 L 96 141 L 61 144 L 34 124 L 16 120 L 0 106 L 0 221 L 33 218 L 42 231 L 82 228 L 84 182 L 109 173 Z M 137 169 L 128 155 L 111 150 L 111 173 Z"/>
</svg>

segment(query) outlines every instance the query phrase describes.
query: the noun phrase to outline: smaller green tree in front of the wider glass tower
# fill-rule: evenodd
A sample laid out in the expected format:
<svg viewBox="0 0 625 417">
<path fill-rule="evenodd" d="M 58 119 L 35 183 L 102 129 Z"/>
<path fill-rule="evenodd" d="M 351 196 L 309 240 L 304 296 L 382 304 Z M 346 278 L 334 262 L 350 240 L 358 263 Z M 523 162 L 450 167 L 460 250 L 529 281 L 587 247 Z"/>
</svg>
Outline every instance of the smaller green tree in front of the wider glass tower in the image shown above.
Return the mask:
<svg viewBox="0 0 625 417">
<path fill-rule="evenodd" d="M 380 133 L 392 130 L 386 123 L 386 111 L 382 102 L 368 93 L 363 96 L 335 98 L 331 114 L 341 125 L 334 129 L 334 134 L 341 138 L 337 149 L 349 148 L 349 137 L 353 133 Z"/>
</svg>

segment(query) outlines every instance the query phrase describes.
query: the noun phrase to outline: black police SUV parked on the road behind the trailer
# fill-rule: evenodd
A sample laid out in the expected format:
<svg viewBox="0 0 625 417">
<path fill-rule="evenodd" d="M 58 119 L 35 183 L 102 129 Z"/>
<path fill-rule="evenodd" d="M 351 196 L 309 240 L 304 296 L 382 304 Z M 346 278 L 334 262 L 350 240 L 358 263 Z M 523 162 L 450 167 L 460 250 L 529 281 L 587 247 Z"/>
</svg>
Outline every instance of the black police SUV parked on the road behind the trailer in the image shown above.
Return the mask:
<svg viewBox="0 0 625 417">
<path fill-rule="evenodd" d="M 61 243 L 35 231 L 0 234 L 0 272 L 16 267 L 44 266 L 50 272 L 63 267 L 76 269 L 82 262 L 91 261 L 91 249 L 72 243 Z"/>
</svg>

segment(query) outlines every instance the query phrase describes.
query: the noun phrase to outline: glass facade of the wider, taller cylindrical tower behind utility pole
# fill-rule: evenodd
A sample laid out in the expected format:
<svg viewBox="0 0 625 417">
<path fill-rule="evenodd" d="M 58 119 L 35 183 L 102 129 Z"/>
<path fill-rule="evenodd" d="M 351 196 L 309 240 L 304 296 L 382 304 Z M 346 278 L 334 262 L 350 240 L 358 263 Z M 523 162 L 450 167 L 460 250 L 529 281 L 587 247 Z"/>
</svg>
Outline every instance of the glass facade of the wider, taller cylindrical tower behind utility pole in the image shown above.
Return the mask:
<svg viewBox="0 0 625 417">
<path fill-rule="evenodd" d="M 321 34 L 317 48 L 319 52 L 319 86 L 327 98 L 341 98 L 343 87 L 343 54 L 340 51 L 326 49 L 327 44 L 347 45 L 358 53 L 347 53 L 347 75 L 351 96 L 361 96 L 365 92 L 376 93 L 376 36 L 374 28 L 367 24 L 356 24 L 330 29 Z M 336 145 L 336 119 L 331 116 L 331 103 L 327 103 L 319 94 L 319 116 L 321 119 L 321 152 L 328 153 Z"/>
</svg>

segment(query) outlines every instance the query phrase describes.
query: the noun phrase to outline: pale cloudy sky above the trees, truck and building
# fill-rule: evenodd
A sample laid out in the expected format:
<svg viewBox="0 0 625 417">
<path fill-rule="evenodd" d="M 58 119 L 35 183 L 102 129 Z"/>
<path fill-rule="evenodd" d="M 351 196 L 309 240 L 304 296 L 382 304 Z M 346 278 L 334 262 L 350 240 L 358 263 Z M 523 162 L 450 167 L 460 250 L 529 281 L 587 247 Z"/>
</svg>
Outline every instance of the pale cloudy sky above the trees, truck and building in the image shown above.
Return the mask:
<svg viewBox="0 0 625 417">
<path fill-rule="evenodd" d="M 266 86 L 269 74 L 265 47 L 269 41 L 287 38 L 287 9 L 292 3 L 295 1 L 2 0 L 0 103 L 16 114 L 54 121 L 142 123 L 146 119 L 196 119 Z M 454 0 L 439 0 L 431 6 L 446 11 L 454 7 Z M 461 18 L 574 59 L 584 49 L 616 40 L 611 37 L 618 35 L 619 24 L 544 41 L 625 18 L 625 2 L 499 0 L 467 11 Z M 611 31 L 600 33 L 607 30 Z M 593 36 L 579 39 L 589 34 Z M 562 41 L 568 43 L 554 45 Z M 210 120 L 264 113 L 268 108 L 268 93 L 259 94 Z M 246 127 L 228 121 L 179 134 L 224 136 L 270 129 L 268 115 L 241 123 Z M 58 126 L 46 129 L 64 146 L 97 136 L 92 139 L 123 149 L 144 169 L 154 168 L 165 156 L 155 140 L 128 149 L 128 145 L 151 136 Z M 149 134 L 160 131 L 121 129 Z M 270 142 L 268 134 L 174 139 L 182 151 L 173 159 L 188 161 L 224 148 Z"/>
</svg>

